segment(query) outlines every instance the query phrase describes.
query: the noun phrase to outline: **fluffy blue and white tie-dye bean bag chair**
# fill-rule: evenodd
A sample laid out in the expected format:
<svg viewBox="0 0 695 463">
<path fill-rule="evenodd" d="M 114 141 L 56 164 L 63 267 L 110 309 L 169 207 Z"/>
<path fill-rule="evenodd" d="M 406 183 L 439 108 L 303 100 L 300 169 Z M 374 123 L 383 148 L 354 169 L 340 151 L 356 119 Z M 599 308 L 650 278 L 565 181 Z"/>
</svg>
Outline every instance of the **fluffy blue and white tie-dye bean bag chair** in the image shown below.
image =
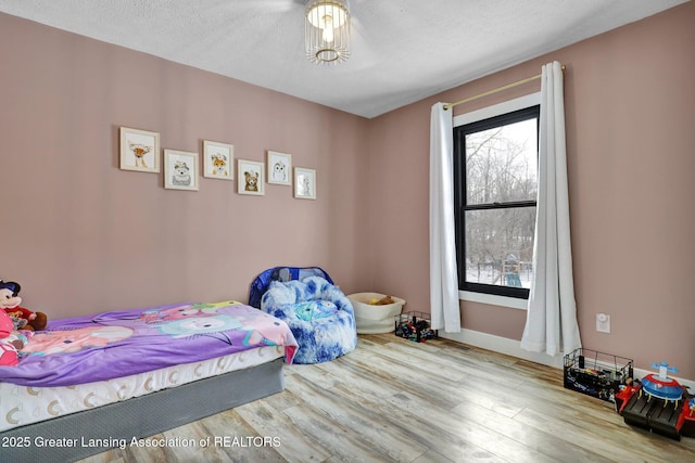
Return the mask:
<svg viewBox="0 0 695 463">
<path fill-rule="evenodd" d="M 271 281 L 261 309 L 290 326 L 299 349 L 294 363 L 333 360 L 357 346 L 355 312 L 338 286 L 320 276 Z"/>
</svg>

